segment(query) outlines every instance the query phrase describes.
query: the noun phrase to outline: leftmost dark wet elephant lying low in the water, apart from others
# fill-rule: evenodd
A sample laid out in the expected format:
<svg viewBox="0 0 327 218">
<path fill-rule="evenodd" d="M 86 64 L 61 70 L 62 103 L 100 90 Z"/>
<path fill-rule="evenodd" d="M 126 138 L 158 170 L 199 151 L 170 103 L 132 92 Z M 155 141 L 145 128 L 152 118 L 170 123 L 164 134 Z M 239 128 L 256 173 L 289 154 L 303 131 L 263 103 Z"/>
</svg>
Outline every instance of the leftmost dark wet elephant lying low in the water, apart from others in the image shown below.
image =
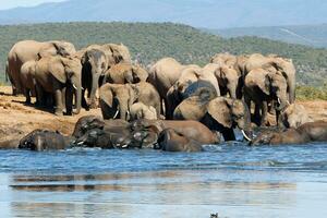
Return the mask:
<svg viewBox="0 0 327 218">
<path fill-rule="evenodd" d="M 37 129 L 20 141 L 19 148 L 37 152 L 64 149 L 70 144 L 70 140 L 59 132 Z"/>
</svg>

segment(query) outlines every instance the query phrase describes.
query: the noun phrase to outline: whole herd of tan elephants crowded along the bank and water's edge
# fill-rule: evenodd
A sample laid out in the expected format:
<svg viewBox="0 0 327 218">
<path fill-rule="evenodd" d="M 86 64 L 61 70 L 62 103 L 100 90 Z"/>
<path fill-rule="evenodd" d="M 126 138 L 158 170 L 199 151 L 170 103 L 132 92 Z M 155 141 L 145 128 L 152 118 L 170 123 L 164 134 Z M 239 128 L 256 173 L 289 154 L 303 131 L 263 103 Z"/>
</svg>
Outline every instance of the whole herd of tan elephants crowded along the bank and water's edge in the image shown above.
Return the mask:
<svg viewBox="0 0 327 218">
<path fill-rule="evenodd" d="M 186 144 L 182 150 L 201 150 L 201 144 L 220 142 L 220 135 L 225 141 L 234 141 L 235 128 L 252 144 L 277 144 L 275 132 L 259 135 L 261 140 L 253 138 L 252 123 L 264 126 L 268 111 L 276 114 L 278 125 L 286 132 L 307 123 L 322 126 L 322 122 L 311 122 L 303 106 L 294 104 L 294 64 L 277 55 L 217 53 L 203 68 L 162 58 L 143 68 L 132 62 L 128 47 L 122 44 L 90 45 L 76 51 L 68 41 L 23 40 L 10 50 L 5 72 L 13 94 L 25 95 L 26 104 L 31 104 L 31 96 L 35 96 L 37 106 L 55 106 L 58 116 L 78 113 L 82 107 L 86 110 L 100 107 L 105 119 L 101 122 L 109 122 L 108 126 L 112 123 L 119 125 L 108 129 L 102 124 L 86 131 L 82 144 L 89 141 L 97 144 L 97 138 L 107 137 L 108 131 L 116 133 L 114 130 L 133 137 L 119 136 L 118 141 L 129 143 L 110 142 L 109 145 L 108 136 L 107 141 L 102 138 L 105 144 L 100 147 L 120 147 L 119 144 L 143 147 L 140 144 L 156 141 L 155 144 L 162 149 L 167 147 L 162 146 L 166 142 L 168 147 Z M 121 126 L 122 121 L 124 126 Z M 135 129 L 140 124 L 137 121 L 142 123 L 142 131 Z M 160 123 L 157 124 L 160 128 L 153 123 Z M 183 128 L 174 128 L 180 123 Z M 193 125 L 202 128 L 194 129 Z M 304 129 L 312 130 L 313 126 Z M 156 136 L 149 132 L 155 132 Z M 110 138 L 114 138 L 113 133 L 109 134 Z M 325 138 L 317 135 L 318 140 L 310 140 Z M 82 136 L 74 137 L 80 145 Z"/>
</svg>

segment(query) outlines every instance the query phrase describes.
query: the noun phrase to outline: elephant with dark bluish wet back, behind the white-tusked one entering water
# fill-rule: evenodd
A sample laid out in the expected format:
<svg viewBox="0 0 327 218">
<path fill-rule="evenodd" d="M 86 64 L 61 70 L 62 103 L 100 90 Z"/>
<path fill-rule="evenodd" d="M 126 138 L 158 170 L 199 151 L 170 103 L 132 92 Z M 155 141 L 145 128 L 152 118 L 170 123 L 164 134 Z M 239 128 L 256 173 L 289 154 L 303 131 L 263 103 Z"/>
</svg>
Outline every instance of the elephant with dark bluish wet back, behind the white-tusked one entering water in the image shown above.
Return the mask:
<svg viewBox="0 0 327 218">
<path fill-rule="evenodd" d="M 166 107 L 167 114 L 169 114 L 169 119 L 173 117 L 173 111 L 178 107 L 180 102 L 191 96 L 197 95 L 207 95 L 210 99 L 217 97 L 217 89 L 213 85 L 213 83 L 208 81 L 197 80 L 193 83 L 190 82 L 187 87 L 183 87 L 182 90 L 177 87 L 178 84 L 174 84 L 167 93 L 167 100 L 169 105 Z"/>
</svg>

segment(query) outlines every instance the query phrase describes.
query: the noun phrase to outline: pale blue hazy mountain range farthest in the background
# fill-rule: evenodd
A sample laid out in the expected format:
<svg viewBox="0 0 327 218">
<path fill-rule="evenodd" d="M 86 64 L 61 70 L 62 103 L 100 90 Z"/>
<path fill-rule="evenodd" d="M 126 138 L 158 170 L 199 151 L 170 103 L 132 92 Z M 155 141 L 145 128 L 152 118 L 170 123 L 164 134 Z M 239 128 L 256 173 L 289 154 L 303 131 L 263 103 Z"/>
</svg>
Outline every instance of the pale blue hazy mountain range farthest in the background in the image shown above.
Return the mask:
<svg viewBox="0 0 327 218">
<path fill-rule="evenodd" d="M 0 11 L 1 24 L 123 21 L 229 28 L 327 23 L 323 0 L 69 0 Z"/>
</svg>

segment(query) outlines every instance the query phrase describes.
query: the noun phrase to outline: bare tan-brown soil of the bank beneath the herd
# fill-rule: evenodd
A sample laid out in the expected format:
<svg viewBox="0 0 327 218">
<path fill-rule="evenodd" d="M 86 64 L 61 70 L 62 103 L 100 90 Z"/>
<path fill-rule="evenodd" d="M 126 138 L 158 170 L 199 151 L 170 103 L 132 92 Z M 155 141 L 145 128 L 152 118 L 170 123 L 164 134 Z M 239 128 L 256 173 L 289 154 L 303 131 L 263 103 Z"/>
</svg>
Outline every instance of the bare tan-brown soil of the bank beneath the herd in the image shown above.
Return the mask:
<svg viewBox="0 0 327 218">
<path fill-rule="evenodd" d="M 10 86 L 0 86 L 0 147 L 11 147 L 25 134 L 35 129 L 59 131 L 69 135 L 73 132 L 78 118 L 87 114 L 101 116 L 100 109 L 92 109 L 77 116 L 58 117 L 51 111 L 40 110 L 32 106 L 25 106 L 24 96 L 12 96 Z M 313 120 L 327 121 L 327 101 L 298 101 L 303 105 Z M 275 123 L 274 116 L 268 117 L 269 123 Z M 16 142 L 11 142 L 15 140 Z"/>
</svg>

